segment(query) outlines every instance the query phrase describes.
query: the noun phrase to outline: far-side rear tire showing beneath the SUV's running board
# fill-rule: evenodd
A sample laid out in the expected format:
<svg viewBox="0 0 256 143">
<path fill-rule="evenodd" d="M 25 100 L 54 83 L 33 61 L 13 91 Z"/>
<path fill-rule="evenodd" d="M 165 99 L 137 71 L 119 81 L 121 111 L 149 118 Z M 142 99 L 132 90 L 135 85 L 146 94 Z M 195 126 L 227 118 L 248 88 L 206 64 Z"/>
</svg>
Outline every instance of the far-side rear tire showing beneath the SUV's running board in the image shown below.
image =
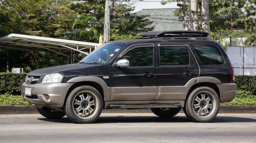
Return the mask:
<svg viewBox="0 0 256 143">
<path fill-rule="evenodd" d="M 159 117 L 170 118 L 177 115 L 181 108 L 150 108 L 150 110 Z"/>
</svg>

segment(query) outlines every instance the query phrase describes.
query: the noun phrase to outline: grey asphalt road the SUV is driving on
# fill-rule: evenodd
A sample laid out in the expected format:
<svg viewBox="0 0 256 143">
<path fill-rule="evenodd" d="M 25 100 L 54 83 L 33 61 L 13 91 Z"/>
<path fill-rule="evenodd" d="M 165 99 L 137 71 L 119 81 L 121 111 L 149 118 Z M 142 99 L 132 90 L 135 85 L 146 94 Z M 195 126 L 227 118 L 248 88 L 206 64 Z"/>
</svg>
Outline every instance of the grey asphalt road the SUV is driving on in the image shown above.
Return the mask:
<svg viewBox="0 0 256 143">
<path fill-rule="evenodd" d="M 40 114 L 0 115 L 0 142 L 256 142 L 256 114 L 218 114 L 209 123 L 195 123 L 182 113 L 169 119 L 102 113 L 91 124 Z"/>
</svg>

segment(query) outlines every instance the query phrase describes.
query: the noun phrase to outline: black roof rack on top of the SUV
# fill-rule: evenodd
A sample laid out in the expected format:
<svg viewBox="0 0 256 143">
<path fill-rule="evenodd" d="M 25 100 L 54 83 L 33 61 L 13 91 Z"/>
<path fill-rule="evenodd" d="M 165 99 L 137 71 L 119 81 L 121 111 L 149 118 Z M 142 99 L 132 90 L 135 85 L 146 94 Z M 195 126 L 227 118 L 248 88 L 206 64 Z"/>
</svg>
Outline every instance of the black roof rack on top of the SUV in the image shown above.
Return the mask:
<svg viewBox="0 0 256 143">
<path fill-rule="evenodd" d="M 205 31 L 149 31 L 141 32 L 141 37 L 207 37 L 209 34 Z"/>
</svg>

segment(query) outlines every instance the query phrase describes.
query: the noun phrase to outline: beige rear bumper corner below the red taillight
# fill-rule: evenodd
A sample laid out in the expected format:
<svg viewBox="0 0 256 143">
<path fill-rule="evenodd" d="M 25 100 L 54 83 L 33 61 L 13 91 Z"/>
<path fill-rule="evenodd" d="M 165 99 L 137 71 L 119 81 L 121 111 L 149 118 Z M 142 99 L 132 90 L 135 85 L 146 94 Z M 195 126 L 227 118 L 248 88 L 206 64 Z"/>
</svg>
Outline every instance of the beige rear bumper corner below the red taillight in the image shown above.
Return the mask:
<svg viewBox="0 0 256 143">
<path fill-rule="evenodd" d="M 237 87 L 235 83 L 224 83 L 216 85 L 220 89 L 221 103 L 230 102 L 235 98 Z"/>
</svg>

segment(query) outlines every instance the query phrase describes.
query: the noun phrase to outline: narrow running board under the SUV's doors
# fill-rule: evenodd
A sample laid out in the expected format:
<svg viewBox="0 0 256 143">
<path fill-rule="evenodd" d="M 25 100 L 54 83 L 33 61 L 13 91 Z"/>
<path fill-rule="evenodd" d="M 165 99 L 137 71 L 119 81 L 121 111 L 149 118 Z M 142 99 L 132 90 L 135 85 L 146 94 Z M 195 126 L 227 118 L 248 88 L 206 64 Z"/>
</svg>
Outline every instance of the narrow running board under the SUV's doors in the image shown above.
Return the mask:
<svg viewBox="0 0 256 143">
<path fill-rule="evenodd" d="M 111 108 L 181 108 L 181 104 L 172 105 L 110 105 Z"/>
</svg>

